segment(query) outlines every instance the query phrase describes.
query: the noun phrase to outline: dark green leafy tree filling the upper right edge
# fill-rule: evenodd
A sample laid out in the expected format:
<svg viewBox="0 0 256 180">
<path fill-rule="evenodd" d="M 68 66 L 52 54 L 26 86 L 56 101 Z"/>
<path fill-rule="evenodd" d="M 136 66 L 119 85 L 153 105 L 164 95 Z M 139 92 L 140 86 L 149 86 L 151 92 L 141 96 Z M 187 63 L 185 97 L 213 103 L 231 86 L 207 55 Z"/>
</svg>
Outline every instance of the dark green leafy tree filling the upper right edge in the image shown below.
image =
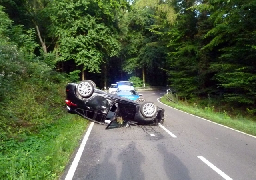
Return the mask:
<svg viewBox="0 0 256 180">
<path fill-rule="evenodd" d="M 223 88 L 224 100 L 254 106 L 256 103 L 256 2 L 209 1 L 214 22 L 206 38 L 213 36 L 205 49 L 218 48 L 220 55 L 211 69 Z"/>
</svg>

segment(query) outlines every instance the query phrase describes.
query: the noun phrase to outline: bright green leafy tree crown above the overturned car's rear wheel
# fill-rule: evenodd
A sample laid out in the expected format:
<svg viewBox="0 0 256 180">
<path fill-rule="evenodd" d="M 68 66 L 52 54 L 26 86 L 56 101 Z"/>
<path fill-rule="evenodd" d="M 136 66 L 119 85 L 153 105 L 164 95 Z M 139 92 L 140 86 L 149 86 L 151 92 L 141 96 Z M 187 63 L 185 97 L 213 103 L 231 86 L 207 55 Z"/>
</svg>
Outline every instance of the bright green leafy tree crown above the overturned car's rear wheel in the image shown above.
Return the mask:
<svg viewBox="0 0 256 180">
<path fill-rule="evenodd" d="M 119 53 L 115 12 L 124 4 L 123 1 L 109 1 L 110 4 L 102 1 L 52 2 L 50 18 L 54 26 L 51 31 L 58 36 L 58 60 L 74 60 L 83 70 L 100 72 L 100 64 L 106 62 L 106 57 Z"/>
</svg>

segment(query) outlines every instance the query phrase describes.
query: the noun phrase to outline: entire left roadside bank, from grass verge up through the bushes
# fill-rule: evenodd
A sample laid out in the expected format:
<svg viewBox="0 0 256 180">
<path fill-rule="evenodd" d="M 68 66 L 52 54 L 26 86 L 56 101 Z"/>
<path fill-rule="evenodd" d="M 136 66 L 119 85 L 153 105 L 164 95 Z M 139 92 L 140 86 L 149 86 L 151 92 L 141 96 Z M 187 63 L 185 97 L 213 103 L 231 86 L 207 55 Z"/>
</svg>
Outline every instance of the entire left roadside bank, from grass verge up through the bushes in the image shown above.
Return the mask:
<svg viewBox="0 0 256 180">
<path fill-rule="evenodd" d="M 58 179 L 87 127 L 67 114 L 65 85 L 36 56 L 34 30 L 14 26 L 0 6 L 0 179 Z"/>
</svg>

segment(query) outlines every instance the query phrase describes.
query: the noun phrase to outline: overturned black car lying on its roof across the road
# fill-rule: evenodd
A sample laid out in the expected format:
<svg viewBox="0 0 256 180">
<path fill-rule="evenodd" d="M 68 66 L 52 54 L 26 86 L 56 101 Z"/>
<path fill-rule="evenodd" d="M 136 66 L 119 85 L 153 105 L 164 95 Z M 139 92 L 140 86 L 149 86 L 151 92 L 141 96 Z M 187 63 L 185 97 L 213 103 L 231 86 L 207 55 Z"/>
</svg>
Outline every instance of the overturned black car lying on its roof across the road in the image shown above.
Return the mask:
<svg viewBox="0 0 256 180">
<path fill-rule="evenodd" d="M 68 112 L 78 114 L 99 124 L 108 125 L 120 122 L 130 124 L 157 125 L 164 122 L 164 109 L 153 102 L 142 104 L 96 89 L 94 82 L 84 80 L 66 86 Z"/>
</svg>

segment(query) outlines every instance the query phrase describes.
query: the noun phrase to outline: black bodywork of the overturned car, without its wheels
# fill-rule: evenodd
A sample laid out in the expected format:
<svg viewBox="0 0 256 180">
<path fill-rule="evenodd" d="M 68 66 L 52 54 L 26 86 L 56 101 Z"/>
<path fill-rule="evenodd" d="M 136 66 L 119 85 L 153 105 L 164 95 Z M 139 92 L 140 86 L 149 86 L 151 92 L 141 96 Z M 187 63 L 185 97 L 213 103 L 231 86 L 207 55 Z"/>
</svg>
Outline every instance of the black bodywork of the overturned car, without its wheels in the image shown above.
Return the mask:
<svg viewBox="0 0 256 180">
<path fill-rule="evenodd" d="M 156 125 L 164 122 L 164 109 L 157 106 L 157 113 L 151 118 L 142 115 L 141 104 L 122 98 L 115 94 L 94 89 L 92 95 L 82 98 L 76 92 L 77 84 L 66 86 L 66 104 L 70 113 L 78 114 L 99 124 L 108 125 L 117 118 L 124 122 L 133 121 L 137 124 Z"/>
</svg>

